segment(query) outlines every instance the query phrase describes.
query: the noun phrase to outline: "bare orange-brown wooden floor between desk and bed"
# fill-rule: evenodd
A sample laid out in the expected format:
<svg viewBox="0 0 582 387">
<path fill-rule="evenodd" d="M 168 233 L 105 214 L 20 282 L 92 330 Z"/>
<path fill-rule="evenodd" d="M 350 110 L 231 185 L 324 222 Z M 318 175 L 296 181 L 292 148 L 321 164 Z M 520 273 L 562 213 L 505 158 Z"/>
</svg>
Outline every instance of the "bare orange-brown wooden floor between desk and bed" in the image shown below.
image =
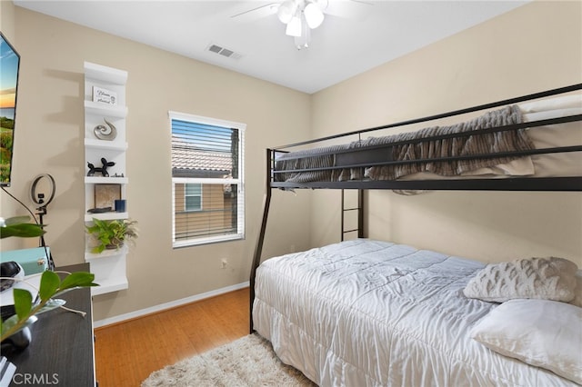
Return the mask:
<svg viewBox="0 0 582 387">
<path fill-rule="evenodd" d="M 95 329 L 99 387 L 139 386 L 151 372 L 248 334 L 248 288 Z"/>
</svg>

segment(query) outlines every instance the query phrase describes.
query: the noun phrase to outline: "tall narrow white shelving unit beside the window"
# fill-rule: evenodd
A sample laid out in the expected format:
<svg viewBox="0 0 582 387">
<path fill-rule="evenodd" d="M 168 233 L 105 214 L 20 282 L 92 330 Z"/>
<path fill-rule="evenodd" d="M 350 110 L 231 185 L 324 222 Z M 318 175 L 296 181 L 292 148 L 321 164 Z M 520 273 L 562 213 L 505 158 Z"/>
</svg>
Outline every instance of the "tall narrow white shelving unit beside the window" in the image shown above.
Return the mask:
<svg viewBox="0 0 582 387">
<path fill-rule="evenodd" d="M 126 199 L 125 152 L 125 83 L 127 72 L 104 65 L 95 65 L 85 62 L 85 223 L 90 224 L 94 218 L 102 220 L 127 219 L 129 213 L 116 213 L 114 203 L 110 203 L 112 210 L 106 213 L 88 213 L 96 207 L 95 186 L 97 184 L 119 184 L 121 199 Z M 95 88 L 103 89 L 115 96 L 115 104 L 94 101 Z M 105 120 L 115 125 L 117 134 L 112 140 L 103 140 L 95 135 L 95 126 L 105 125 Z M 114 162 L 107 167 L 109 176 L 96 172 L 87 176 L 87 164 L 102 167 L 101 159 Z M 107 204 L 106 206 L 109 206 Z M 111 293 L 127 289 L 125 274 L 126 246 L 119 250 L 105 250 L 103 253 L 91 253 L 91 238 L 85 238 L 85 262 L 91 264 L 91 273 L 95 273 L 95 283 L 100 286 L 91 289 L 93 295 Z"/>
</svg>

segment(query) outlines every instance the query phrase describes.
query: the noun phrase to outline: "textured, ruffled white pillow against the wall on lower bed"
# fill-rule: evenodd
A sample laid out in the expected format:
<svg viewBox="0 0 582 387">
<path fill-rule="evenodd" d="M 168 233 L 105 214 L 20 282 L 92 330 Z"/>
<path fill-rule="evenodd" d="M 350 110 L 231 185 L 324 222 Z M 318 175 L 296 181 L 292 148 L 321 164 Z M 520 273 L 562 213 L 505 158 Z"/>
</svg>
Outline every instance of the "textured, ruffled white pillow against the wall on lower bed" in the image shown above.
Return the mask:
<svg viewBox="0 0 582 387">
<path fill-rule="evenodd" d="M 570 302 L 577 265 L 564 258 L 528 258 L 487 264 L 467 283 L 468 298 L 504 303 L 514 298 Z"/>
</svg>

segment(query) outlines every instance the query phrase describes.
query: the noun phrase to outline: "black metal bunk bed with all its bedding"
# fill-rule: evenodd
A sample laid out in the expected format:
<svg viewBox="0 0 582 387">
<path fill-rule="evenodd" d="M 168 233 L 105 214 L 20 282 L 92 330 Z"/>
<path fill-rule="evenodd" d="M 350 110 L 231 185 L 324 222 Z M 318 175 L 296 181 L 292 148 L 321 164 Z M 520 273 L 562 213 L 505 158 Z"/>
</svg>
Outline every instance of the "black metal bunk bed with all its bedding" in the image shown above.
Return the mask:
<svg viewBox="0 0 582 387">
<path fill-rule="evenodd" d="M 574 84 L 267 149 L 250 278 L 251 332 L 321 385 L 582 383 L 582 272 L 567 260 L 485 265 L 358 238 L 261 263 L 273 189 L 582 191 L 581 89 Z M 460 124 L 429 124 L 466 115 Z M 418 124 L 426 126 L 362 138 Z M 498 272 L 484 274 L 532 264 L 540 265 L 527 272 L 537 276 L 537 285 L 526 293 L 491 282 Z M 551 281 L 544 277 L 550 266 L 556 269 Z M 501 286 L 505 298 L 479 293 L 485 285 L 477 279 L 484 278 L 489 287 Z M 540 290 L 545 281 L 563 292 Z M 539 324 L 557 332 L 548 339 Z M 524 332 L 525 341 L 519 336 Z M 523 342 L 536 345 L 523 348 Z"/>
</svg>

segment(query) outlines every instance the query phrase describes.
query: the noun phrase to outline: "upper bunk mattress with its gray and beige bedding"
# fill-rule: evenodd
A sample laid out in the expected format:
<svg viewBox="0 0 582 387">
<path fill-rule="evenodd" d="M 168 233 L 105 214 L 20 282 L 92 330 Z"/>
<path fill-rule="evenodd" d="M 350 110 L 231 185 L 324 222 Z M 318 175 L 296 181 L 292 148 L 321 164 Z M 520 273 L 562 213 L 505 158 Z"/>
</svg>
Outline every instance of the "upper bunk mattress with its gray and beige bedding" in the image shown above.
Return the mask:
<svg viewBox="0 0 582 387">
<path fill-rule="evenodd" d="M 274 180 L 276 182 L 308 183 L 348 180 L 450 179 L 465 176 L 580 176 L 582 175 L 580 152 L 325 169 L 338 166 L 339 155 L 346 151 L 360 151 L 378 145 L 417 140 L 426 135 L 459 134 L 575 114 L 582 114 L 581 94 L 506 106 L 460 124 L 433 126 L 405 134 L 368 137 L 365 140 L 350 144 L 318 147 L 287 154 L 277 153 L 275 170 L 295 171 L 274 174 Z M 513 152 L 570 145 L 582 145 L 582 123 L 579 121 L 566 124 L 547 124 L 497 134 L 478 134 L 454 139 L 396 145 L 392 148 L 391 154 L 386 154 L 383 157 L 385 157 L 384 161 L 425 160 L 434 157 Z M 324 169 L 297 171 L 313 168 Z"/>
</svg>

